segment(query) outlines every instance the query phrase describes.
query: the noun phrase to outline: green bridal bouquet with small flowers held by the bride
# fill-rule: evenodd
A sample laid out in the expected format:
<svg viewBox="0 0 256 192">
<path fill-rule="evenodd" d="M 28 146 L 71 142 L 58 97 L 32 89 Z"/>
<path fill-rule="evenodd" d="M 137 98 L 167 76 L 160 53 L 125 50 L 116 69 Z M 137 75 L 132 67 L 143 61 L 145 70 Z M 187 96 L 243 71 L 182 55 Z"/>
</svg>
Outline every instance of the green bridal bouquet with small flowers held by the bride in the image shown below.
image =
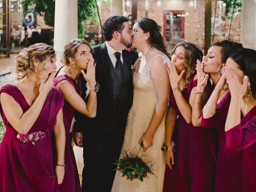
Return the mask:
<svg viewBox="0 0 256 192">
<path fill-rule="evenodd" d="M 154 175 L 153 165 L 148 166 L 146 162 L 141 159 L 143 152 L 143 147 L 140 147 L 140 150 L 136 156 L 133 156 L 130 153 L 130 156 L 127 153 L 127 150 L 121 154 L 120 160 L 115 160 L 114 165 L 117 166 L 115 170 L 120 171 L 126 177 L 127 180 L 139 179 L 143 182 L 143 178 L 148 178 L 148 174 Z"/>
</svg>

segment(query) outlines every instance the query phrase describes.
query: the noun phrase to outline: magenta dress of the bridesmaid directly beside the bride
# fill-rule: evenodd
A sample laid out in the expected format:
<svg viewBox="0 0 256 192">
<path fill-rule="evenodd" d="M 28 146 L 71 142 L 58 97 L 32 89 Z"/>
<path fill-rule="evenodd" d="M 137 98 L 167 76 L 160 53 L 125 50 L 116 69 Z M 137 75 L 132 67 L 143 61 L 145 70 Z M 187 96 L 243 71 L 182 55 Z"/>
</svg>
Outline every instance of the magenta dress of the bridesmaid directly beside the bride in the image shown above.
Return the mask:
<svg viewBox="0 0 256 192">
<path fill-rule="evenodd" d="M 188 102 L 196 72 L 190 84 L 182 91 Z M 170 105 L 178 114 L 172 140 L 174 149 L 174 166 L 172 170 L 166 166 L 164 192 L 212 192 L 214 191 L 216 149 L 218 133 L 214 129 L 204 129 L 188 124 L 180 113 L 172 95 Z"/>
</svg>

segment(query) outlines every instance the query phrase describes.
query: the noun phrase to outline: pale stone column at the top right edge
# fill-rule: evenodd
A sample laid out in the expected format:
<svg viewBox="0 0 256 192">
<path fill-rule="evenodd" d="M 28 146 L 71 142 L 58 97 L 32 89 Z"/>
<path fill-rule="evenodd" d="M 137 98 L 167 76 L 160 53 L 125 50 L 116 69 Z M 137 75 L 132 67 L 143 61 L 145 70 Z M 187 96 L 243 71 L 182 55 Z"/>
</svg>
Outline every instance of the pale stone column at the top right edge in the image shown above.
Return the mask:
<svg viewBox="0 0 256 192">
<path fill-rule="evenodd" d="M 241 43 L 256 50 L 256 0 L 242 2 Z"/>
</svg>

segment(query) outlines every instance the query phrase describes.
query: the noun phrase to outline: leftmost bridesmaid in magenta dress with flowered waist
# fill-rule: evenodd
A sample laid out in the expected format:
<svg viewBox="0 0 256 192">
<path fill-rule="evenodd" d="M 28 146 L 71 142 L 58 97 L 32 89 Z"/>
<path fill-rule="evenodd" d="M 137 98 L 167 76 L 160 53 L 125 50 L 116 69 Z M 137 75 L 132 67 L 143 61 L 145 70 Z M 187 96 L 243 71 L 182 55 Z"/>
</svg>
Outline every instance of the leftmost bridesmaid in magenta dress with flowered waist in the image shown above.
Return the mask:
<svg viewBox="0 0 256 192">
<path fill-rule="evenodd" d="M 52 86 L 55 61 L 51 46 L 40 43 L 24 48 L 16 58 L 20 81 L 0 90 L 0 113 L 6 125 L 0 146 L 2 192 L 57 192 L 63 180 L 64 96 Z"/>
</svg>

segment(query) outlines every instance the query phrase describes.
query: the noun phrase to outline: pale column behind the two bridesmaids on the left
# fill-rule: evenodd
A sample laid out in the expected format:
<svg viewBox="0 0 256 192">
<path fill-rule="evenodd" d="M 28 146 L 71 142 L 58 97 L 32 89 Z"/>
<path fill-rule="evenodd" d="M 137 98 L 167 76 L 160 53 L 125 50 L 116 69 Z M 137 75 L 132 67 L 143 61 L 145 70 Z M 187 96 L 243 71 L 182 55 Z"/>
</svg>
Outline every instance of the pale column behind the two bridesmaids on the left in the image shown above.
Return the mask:
<svg viewBox="0 0 256 192">
<path fill-rule="evenodd" d="M 55 0 L 54 18 L 54 50 L 56 51 L 58 68 L 64 51 L 64 46 L 70 40 L 78 37 L 77 0 Z"/>
</svg>

